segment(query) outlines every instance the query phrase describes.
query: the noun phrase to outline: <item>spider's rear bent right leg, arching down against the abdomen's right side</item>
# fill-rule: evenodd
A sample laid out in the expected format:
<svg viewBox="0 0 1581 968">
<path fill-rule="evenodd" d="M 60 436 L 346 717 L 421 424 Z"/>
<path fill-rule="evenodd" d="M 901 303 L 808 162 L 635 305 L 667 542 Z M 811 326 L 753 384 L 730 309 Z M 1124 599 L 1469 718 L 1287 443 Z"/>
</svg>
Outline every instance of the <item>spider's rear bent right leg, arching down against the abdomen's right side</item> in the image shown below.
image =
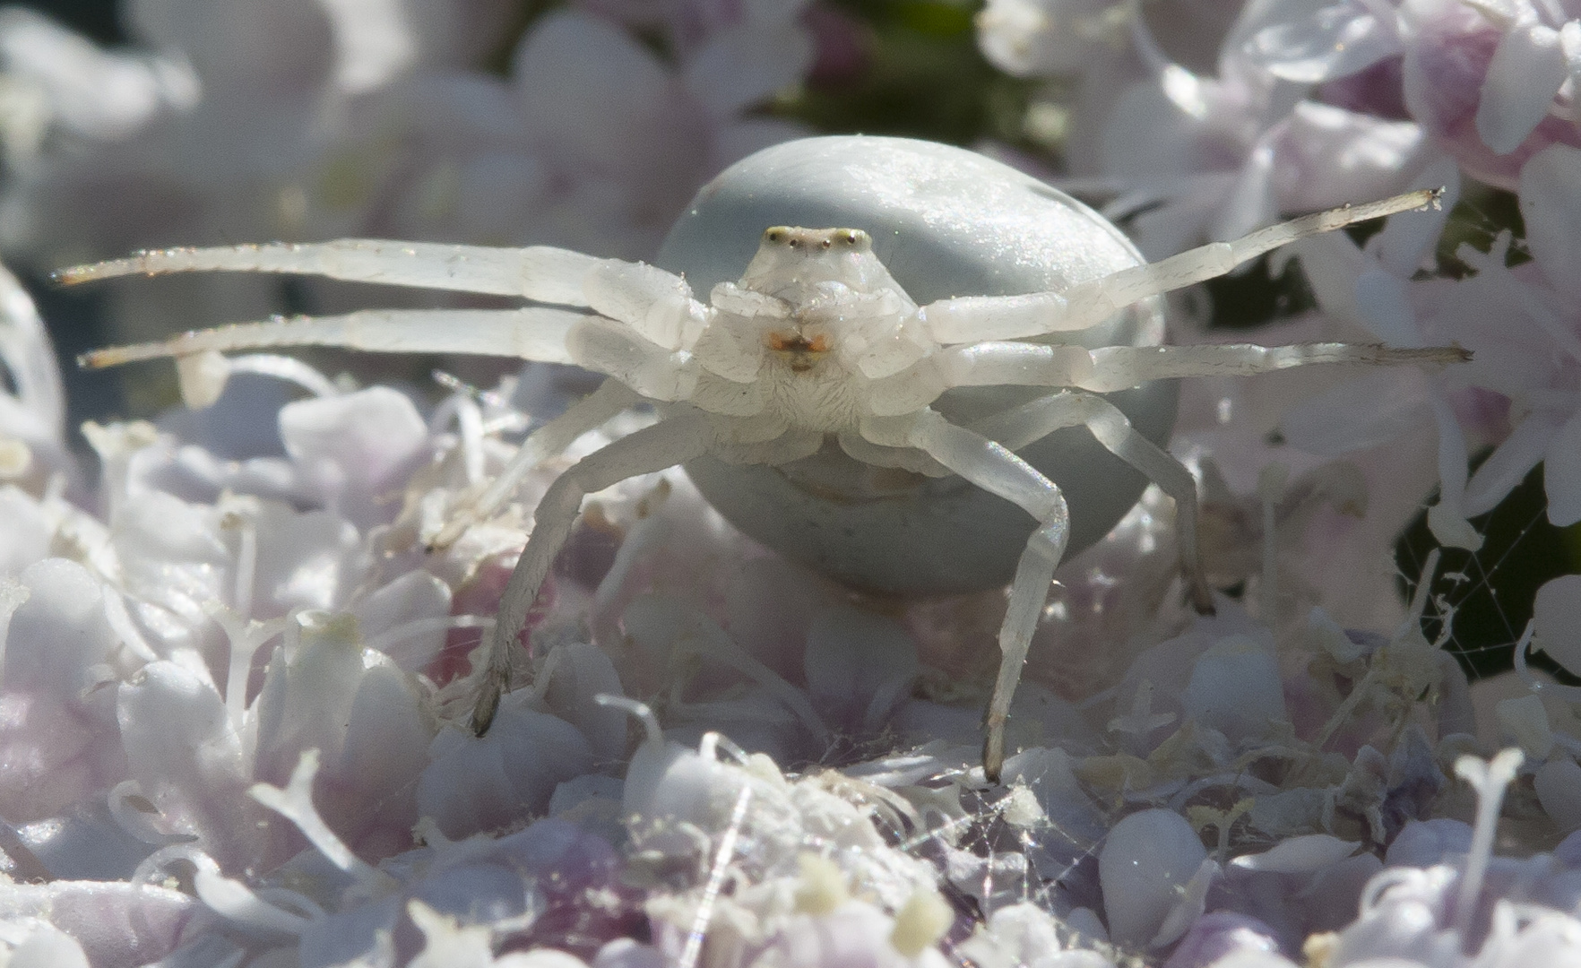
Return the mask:
<svg viewBox="0 0 1581 968">
<path fill-rule="evenodd" d="M 1208 576 L 1202 568 L 1202 552 L 1197 549 L 1197 481 L 1179 460 L 1138 433 L 1118 406 L 1104 397 L 1064 391 L 996 413 L 977 421 L 971 429 L 998 440 L 1012 451 L 1020 451 L 1061 427 L 1078 424 L 1085 424 L 1110 454 L 1146 475 L 1149 481 L 1164 489 L 1164 493 L 1175 498 L 1181 571 L 1190 588 L 1192 606 L 1198 612 L 1211 615 L 1213 590 L 1208 587 Z"/>
</svg>

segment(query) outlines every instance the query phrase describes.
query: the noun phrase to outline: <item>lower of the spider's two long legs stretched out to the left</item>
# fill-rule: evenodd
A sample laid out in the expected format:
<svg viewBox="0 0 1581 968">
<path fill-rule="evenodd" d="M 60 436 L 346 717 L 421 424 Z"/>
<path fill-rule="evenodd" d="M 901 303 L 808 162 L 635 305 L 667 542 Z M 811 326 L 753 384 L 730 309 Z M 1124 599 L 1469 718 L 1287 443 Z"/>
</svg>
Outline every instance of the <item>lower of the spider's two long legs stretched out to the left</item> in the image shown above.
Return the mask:
<svg viewBox="0 0 1581 968">
<path fill-rule="evenodd" d="M 199 329 L 160 343 L 84 353 L 84 367 L 138 359 L 225 353 L 261 346 L 341 346 L 375 353 L 477 353 L 542 362 L 575 362 L 566 351 L 571 327 L 588 316 L 561 308 L 517 310 L 357 310 L 343 316 L 292 316 Z"/>
</svg>

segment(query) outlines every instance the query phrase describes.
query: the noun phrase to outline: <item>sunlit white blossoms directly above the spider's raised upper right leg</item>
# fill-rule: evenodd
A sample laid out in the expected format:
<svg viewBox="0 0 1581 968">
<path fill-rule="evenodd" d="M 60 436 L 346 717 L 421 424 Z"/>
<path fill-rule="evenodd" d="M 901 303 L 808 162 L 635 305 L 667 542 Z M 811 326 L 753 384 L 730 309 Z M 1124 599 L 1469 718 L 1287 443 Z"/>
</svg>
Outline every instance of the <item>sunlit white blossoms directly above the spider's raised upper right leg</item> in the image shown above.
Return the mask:
<svg viewBox="0 0 1581 968">
<path fill-rule="evenodd" d="M 1270 5 L 1227 25 L 1208 59 L 1213 73 L 1173 60 L 1137 5 L 1089 6 L 1100 9 L 990 5 L 980 38 L 996 62 L 1026 74 L 1067 73 L 1078 44 L 1102 46 L 1085 25 L 1107 25 L 1110 46 L 1134 52 L 1137 70 L 1104 76 L 1096 85 L 1107 93 L 1077 100 L 1064 152 L 1072 187 L 1113 195 L 1105 214 L 1129 217 L 1149 258 L 1238 237 L 1281 212 L 1399 191 L 1436 155 L 1418 125 L 1325 103 L 1311 84 L 1249 57 Z"/>
</svg>

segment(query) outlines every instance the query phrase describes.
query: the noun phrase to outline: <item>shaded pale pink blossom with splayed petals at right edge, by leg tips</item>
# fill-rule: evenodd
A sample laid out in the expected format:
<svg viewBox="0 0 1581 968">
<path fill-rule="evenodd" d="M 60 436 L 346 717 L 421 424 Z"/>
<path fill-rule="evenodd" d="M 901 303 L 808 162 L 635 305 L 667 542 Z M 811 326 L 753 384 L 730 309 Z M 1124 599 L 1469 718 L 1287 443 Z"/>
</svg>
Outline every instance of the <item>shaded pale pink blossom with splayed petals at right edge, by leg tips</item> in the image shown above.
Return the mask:
<svg viewBox="0 0 1581 968">
<path fill-rule="evenodd" d="M 1573 400 L 1581 342 L 1565 310 L 1573 288 L 1568 233 L 1575 231 L 1578 158 L 1578 149 L 1551 146 L 1523 169 L 1529 264 L 1507 266 L 1511 239 L 1502 236 L 1486 255 L 1461 247 L 1475 270 L 1464 280 L 1407 282 L 1413 261 L 1388 267 L 1388 229 L 1369 242 L 1379 259 L 1371 267 L 1364 255 L 1336 251 L 1345 240 L 1307 247 L 1303 255 L 1325 307 L 1390 342 L 1456 342 L 1478 354 L 1436 381 L 1394 386 L 1388 397 L 1355 388 L 1331 392 L 1285 422 L 1300 446 L 1328 452 L 1391 440 L 1409 427 L 1436 427 L 1443 497 L 1431 520 L 1447 544 L 1477 547 L 1481 539 L 1466 517 L 1491 511 L 1538 462 L 1545 463 L 1548 519 L 1556 525 L 1581 520 L 1581 471 L 1573 467 L 1581 448 Z M 1336 256 L 1349 264 L 1336 264 Z M 1500 403 L 1508 400 L 1507 429 L 1478 414 L 1492 394 Z M 1469 479 L 1467 440 L 1499 444 Z"/>
</svg>

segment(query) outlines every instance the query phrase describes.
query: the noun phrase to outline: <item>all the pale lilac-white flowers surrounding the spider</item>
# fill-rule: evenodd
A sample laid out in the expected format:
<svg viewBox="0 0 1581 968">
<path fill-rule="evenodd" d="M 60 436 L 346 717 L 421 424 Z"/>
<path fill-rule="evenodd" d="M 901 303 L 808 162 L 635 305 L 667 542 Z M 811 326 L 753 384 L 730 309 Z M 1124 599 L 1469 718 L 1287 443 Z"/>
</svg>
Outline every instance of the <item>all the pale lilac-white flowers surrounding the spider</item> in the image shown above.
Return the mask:
<svg viewBox="0 0 1581 968">
<path fill-rule="evenodd" d="M 512 9 L 131 0 L 144 46 L 114 54 L 3 11 L 0 244 L 645 256 L 708 176 L 798 131 L 754 108 L 813 70 L 816 6 L 587 0 L 531 22 L 509 79 L 473 70 Z M 1440 481 L 1436 533 L 1475 546 L 1467 517 L 1538 462 L 1549 519 L 1581 520 L 1578 17 L 988 3 L 982 47 L 1072 81 L 1073 182 L 1149 255 L 1410 185 L 1453 201 L 1462 177 L 1518 191 L 1526 231 L 1462 247 L 1462 278 L 1429 272 L 1443 212 L 1303 244 L 1320 312 L 1258 340 L 1473 362 L 1187 388 L 1173 448 L 1206 563 L 1247 593 L 1181 611 L 1149 490 L 1059 571 L 1002 785 L 975 766 L 1002 595 L 855 596 L 680 471 L 585 505 L 515 656 L 531 685 L 474 737 L 471 655 L 538 498 L 643 418 L 443 552 L 446 514 L 583 375 L 447 380 L 430 405 L 237 356 L 206 410 L 87 424 L 90 482 L 43 323 L 0 277 L 0 963 L 1576 963 L 1581 690 L 1527 655 L 1581 674 L 1581 576 L 1541 590 L 1515 674 L 1469 683 L 1453 617 L 1421 633 L 1436 558 L 1407 604 L 1388 555 Z M 117 312 L 163 334 L 267 312 L 253 285 Z"/>
</svg>

